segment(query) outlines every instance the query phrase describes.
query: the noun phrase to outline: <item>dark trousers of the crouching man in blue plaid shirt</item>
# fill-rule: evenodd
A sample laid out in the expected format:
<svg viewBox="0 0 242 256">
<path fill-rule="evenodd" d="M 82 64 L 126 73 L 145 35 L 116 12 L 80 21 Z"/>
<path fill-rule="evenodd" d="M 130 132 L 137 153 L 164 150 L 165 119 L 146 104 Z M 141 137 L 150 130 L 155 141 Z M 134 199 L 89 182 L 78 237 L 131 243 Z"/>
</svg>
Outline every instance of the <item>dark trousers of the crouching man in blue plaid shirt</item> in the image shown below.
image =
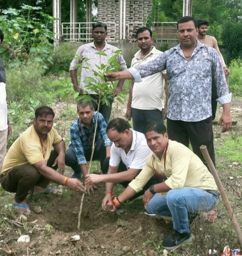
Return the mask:
<svg viewBox="0 0 242 256">
<path fill-rule="evenodd" d="M 91 154 L 92 154 L 92 146 L 91 145 L 83 145 L 84 155 L 86 161 L 90 161 Z M 98 139 L 96 141 L 96 146 L 93 153 L 92 160 L 99 160 L 101 165 L 101 170 L 103 170 L 103 161 L 106 157 L 106 148 L 104 146 L 103 139 Z M 80 164 L 78 164 L 76 159 L 76 154 L 73 150 L 73 147 L 70 146 L 66 152 L 65 162 L 67 166 L 70 166 L 74 174 L 79 175 L 81 173 Z"/>
</svg>

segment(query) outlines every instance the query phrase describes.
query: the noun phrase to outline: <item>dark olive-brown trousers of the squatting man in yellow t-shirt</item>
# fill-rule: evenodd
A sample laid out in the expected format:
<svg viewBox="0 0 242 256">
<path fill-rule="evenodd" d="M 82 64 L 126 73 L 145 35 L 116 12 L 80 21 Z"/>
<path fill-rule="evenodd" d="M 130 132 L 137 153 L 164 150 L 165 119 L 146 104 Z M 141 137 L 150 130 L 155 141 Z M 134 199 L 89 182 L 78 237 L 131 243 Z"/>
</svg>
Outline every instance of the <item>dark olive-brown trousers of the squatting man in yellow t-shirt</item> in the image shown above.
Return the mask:
<svg viewBox="0 0 242 256">
<path fill-rule="evenodd" d="M 52 165 L 57 156 L 57 152 L 52 150 L 47 166 L 53 168 Z M 54 166 L 53 169 L 57 169 L 57 166 Z M 7 171 L 5 175 L 0 176 L 2 188 L 9 192 L 16 192 L 15 200 L 17 203 L 22 202 L 35 185 L 47 188 L 49 182 L 50 180 L 41 175 L 35 166 L 29 163 L 17 165 Z"/>
</svg>

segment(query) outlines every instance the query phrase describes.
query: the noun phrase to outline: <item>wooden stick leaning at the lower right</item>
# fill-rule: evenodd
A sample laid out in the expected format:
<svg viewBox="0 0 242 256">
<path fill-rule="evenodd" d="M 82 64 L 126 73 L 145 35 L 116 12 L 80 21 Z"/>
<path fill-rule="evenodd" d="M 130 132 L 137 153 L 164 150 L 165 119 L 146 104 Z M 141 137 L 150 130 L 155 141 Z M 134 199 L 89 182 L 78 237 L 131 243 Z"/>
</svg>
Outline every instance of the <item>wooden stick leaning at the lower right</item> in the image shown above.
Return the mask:
<svg viewBox="0 0 242 256">
<path fill-rule="evenodd" d="M 226 193 L 225 193 L 225 190 L 224 190 L 224 188 L 223 188 L 223 184 L 222 184 L 222 182 L 220 181 L 220 178 L 219 178 L 219 175 L 218 175 L 218 173 L 217 173 L 217 170 L 215 169 L 215 166 L 213 165 L 213 162 L 212 162 L 212 160 L 210 159 L 210 156 L 209 156 L 208 151 L 207 151 L 207 147 L 204 146 L 204 145 L 202 145 L 202 146 L 200 147 L 200 149 L 201 149 L 201 152 L 202 152 L 202 154 L 203 154 L 203 156 L 204 156 L 204 159 L 205 159 L 205 161 L 206 161 L 206 163 L 207 163 L 207 165 L 208 165 L 208 168 L 210 169 L 210 172 L 212 173 L 213 178 L 214 178 L 214 180 L 215 180 L 215 182 L 216 182 L 216 184 L 217 184 L 217 187 L 218 187 L 219 192 L 220 192 L 220 196 L 221 196 L 221 198 L 223 199 L 223 203 L 224 203 L 224 205 L 225 205 L 225 207 L 226 207 L 226 209 L 227 209 L 227 211 L 228 211 L 229 218 L 230 218 L 230 220 L 232 221 L 232 224 L 233 224 L 233 226 L 234 226 L 234 228 L 235 228 L 237 237 L 238 237 L 238 239 L 239 239 L 239 243 L 240 243 L 240 245 L 242 246 L 242 232 L 241 232 L 241 229 L 240 229 L 240 227 L 239 227 L 239 223 L 238 223 L 237 220 L 236 220 L 234 211 L 233 211 L 233 209 L 232 209 L 232 207 L 231 207 L 231 205 L 230 205 L 230 203 L 229 203 L 229 200 L 228 200 L 228 198 L 227 198 L 227 195 L 226 195 Z"/>
</svg>

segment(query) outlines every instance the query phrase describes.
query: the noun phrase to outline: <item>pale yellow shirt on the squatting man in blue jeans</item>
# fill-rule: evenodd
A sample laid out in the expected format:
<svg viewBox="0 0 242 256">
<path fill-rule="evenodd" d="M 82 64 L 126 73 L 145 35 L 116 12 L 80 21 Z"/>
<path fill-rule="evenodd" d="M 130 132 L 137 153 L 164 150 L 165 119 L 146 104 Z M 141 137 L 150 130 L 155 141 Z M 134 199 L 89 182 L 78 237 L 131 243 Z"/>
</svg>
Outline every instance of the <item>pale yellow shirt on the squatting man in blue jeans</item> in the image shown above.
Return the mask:
<svg viewBox="0 0 242 256">
<path fill-rule="evenodd" d="M 201 159 L 181 143 L 169 139 L 165 166 L 166 168 L 164 168 L 164 156 L 159 159 L 155 153 L 151 154 L 140 174 L 130 182 L 129 186 L 139 192 L 157 172 L 167 177 L 165 183 L 172 189 L 193 187 L 218 190 L 213 175 Z"/>
</svg>

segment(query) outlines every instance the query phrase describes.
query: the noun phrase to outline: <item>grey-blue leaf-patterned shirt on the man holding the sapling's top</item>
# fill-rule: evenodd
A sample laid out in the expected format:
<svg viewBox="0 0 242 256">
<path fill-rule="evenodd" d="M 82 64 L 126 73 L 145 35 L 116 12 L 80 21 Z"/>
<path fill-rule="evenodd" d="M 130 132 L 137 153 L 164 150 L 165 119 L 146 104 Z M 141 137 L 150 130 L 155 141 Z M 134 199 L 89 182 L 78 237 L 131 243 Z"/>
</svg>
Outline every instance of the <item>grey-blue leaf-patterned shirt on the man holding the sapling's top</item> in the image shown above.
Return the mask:
<svg viewBox="0 0 242 256">
<path fill-rule="evenodd" d="M 169 119 L 197 122 L 210 117 L 212 83 L 217 87 L 220 104 L 231 101 L 220 57 L 212 47 L 197 42 L 191 58 L 186 60 L 178 44 L 148 64 L 128 71 L 139 82 L 142 77 L 164 69 L 169 84 Z"/>
</svg>

